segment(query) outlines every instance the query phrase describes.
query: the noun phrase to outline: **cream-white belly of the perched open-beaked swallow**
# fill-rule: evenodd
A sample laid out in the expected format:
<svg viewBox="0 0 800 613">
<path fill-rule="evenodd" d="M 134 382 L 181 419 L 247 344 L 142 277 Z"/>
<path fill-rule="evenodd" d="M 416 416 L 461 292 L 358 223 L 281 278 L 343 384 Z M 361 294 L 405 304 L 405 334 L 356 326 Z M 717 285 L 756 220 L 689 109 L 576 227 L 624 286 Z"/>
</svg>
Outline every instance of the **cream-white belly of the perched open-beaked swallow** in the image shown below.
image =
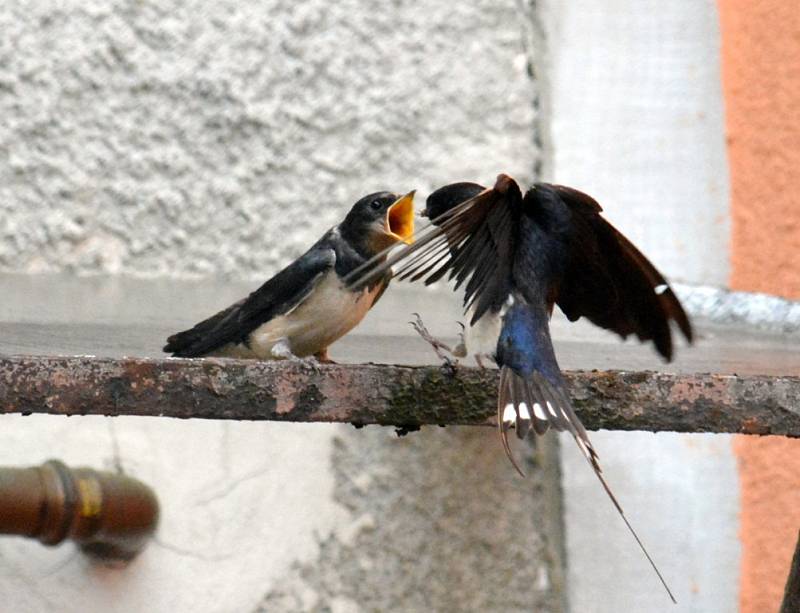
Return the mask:
<svg viewBox="0 0 800 613">
<path fill-rule="evenodd" d="M 358 325 L 379 291 L 380 286 L 360 293 L 346 290 L 336 273 L 331 271 L 294 309 L 253 330 L 248 339 L 249 347 L 228 345 L 217 355 L 271 359 L 272 347 L 279 341 L 286 341 L 298 357 L 313 355 Z"/>
</svg>

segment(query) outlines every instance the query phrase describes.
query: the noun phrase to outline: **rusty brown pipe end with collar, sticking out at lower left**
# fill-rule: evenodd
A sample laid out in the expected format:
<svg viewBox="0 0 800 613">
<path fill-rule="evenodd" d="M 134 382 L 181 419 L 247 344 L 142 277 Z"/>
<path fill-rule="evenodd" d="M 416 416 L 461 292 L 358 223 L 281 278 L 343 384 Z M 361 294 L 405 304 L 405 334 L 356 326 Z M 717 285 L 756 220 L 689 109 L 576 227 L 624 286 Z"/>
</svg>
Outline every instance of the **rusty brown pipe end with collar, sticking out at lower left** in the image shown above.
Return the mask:
<svg viewBox="0 0 800 613">
<path fill-rule="evenodd" d="M 158 500 L 131 477 L 48 460 L 0 467 L 0 534 L 58 545 L 71 539 L 88 554 L 129 560 L 158 524 Z"/>
</svg>

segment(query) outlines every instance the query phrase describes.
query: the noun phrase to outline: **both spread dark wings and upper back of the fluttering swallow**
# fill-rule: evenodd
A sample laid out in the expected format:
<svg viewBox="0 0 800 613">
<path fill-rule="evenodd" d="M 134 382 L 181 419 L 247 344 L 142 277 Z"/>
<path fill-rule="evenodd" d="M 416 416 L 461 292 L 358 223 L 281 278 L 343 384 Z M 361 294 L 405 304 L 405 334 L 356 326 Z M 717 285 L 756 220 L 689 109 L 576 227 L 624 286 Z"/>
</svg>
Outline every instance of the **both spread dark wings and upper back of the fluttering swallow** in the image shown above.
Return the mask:
<svg viewBox="0 0 800 613">
<path fill-rule="evenodd" d="M 393 265 L 396 278 L 426 284 L 449 273 L 457 287 L 466 283 L 464 301 L 473 307 L 474 323 L 500 309 L 513 275 L 515 286 L 531 290 L 525 292 L 529 302 L 556 302 L 571 321 L 586 317 L 623 338 L 652 340 L 667 359 L 671 321 L 691 342 L 689 318 L 664 276 L 603 219 L 594 199 L 539 183 L 521 206 L 520 200 L 516 182 L 500 175 L 492 189 L 433 219 L 412 245 L 367 262 L 348 283 L 362 286 Z"/>
</svg>

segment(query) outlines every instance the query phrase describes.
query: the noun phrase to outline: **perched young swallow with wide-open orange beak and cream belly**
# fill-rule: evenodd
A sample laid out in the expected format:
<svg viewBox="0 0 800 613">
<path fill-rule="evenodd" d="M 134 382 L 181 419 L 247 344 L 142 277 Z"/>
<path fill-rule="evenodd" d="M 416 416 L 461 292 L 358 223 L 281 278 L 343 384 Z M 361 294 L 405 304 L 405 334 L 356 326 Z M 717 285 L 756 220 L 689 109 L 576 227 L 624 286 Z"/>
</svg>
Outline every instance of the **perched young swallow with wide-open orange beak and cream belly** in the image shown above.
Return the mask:
<svg viewBox="0 0 800 613">
<path fill-rule="evenodd" d="M 378 301 L 391 272 L 355 290 L 344 277 L 414 233 L 414 192 L 377 192 L 247 298 L 167 339 L 177 357 L 224 356 L 328 360 L 328 346 Z M 377 256 L 375 261 L 381 257 Z"/>
</svg>

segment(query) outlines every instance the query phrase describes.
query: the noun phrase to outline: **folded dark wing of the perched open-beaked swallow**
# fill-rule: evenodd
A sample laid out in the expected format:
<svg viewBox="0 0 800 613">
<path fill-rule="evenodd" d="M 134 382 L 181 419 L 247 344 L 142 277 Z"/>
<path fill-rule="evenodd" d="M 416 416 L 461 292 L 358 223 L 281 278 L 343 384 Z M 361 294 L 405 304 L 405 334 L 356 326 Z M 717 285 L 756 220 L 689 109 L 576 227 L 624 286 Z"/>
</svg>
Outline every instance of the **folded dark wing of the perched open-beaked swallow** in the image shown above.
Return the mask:
<svg viewBox="0 0 800 613">
<path fill-rule="evenodd" d="M 167 339 L 164 351 L 176 357 L 206 355 L 228 343 L 245 342 L 261 324 L 305 300 L 317 282 L 333 271 L 333 249 L 312 248 L 247 298 Z"/>
</svg>

